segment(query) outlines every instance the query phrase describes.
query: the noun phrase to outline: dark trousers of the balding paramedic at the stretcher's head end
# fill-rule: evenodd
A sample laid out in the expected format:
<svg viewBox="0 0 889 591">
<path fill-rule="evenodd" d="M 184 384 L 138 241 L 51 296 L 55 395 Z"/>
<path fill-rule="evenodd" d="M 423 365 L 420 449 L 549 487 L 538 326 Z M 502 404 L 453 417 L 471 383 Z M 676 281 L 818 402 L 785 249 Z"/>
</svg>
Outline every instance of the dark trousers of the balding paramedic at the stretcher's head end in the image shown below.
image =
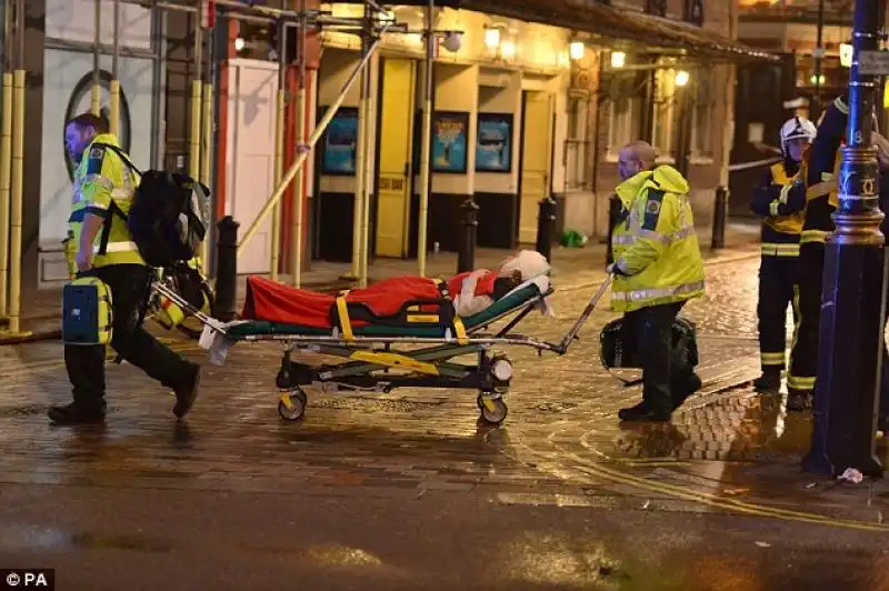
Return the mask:
<svg viewBox="0 0 889 591">
<path fill-rule="evenodd" d="M 673 351 L 672 327 L 685 303 L 651 305 L 623 317 L 623 330 L 636 337 L 642 362 L 642 401 L 653 409 L 672 411 L 673 390 L 681 389 L 693 372 Z"/>
</svg>

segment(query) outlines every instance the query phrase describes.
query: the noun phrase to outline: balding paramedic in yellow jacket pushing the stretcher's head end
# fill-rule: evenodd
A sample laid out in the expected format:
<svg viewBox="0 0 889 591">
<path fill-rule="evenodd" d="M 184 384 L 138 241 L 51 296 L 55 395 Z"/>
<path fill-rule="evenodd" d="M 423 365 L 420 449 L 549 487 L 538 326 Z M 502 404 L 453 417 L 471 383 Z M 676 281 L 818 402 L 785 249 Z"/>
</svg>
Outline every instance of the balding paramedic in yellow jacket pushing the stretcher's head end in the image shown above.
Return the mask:
<svg viewBox="0 0 889 591">
<path fill-rule="evenodd" d="M 611 309 L 623 312 L 623 334 L 642 362 L 642 401 L 623 421 L 669 421 L 701 387 L 693 368 L 673 354 L 672 327 L 685 303 L 703 294 L 703 261 L 688 200 L 689 184 L 668 166 L 656 167 L 647 142 L 626 146 L 618 160 L 621 214 L 611 236 Z M 626 339 L 627 337 L 625 337 Z"/>
</svg>

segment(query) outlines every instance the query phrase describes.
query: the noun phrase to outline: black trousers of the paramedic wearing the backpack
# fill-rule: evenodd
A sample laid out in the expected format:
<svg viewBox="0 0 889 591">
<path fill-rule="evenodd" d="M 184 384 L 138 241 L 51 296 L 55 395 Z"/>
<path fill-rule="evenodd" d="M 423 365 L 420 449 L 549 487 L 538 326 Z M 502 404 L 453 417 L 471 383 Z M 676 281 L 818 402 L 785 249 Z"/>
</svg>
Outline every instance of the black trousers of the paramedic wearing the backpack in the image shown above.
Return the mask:
<svg viewBox="0 0 889 591">
<path fill-rule="evenodd" d="M 97 269 L 96 274 L 111 290 L 114 351 L 170 389 L 184 385 L 191 363 L 158 342 L 138 322 L 149 268 L 114 264 Z M 64 367 L 73 385 L 74 402 L 83 410 L 104 412 L 104 353 L 101 344 L 64 345 Z"/>
</svg>

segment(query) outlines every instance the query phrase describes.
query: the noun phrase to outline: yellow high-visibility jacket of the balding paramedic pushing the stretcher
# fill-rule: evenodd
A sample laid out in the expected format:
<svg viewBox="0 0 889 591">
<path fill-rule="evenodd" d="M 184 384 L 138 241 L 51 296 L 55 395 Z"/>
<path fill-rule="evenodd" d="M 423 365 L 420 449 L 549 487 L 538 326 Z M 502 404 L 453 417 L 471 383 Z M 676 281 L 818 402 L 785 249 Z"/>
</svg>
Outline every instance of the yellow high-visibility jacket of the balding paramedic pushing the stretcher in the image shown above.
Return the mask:
<svg viewBox="0 0 889 591">
<path fill-rule="evenodd" d="M 703 294 L 703 261 L 688 182 L 672 167 L 658 167 L 617 188 L 622 204 L 611 246 L 617 274 L 611 309 L 628 312 Z"/>
</svg>

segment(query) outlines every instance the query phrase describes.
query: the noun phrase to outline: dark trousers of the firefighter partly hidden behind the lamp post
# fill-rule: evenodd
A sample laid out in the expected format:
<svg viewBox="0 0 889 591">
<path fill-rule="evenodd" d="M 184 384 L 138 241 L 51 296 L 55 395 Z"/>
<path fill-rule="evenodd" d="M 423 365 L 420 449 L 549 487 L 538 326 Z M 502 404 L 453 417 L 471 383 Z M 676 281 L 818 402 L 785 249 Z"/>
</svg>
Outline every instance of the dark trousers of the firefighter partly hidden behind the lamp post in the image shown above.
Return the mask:
<svg viewBox="0 0 889 591">
<path fill-rule="evenodd" d="M 818 328 L 821 322 L 821 280 L 825 273 L 825 246 L 809 242 L 800 247 L 796 297 L 799 324 L 790 353 L 788 388 L 815 391 L 818 374 Z"/>
</svg>

